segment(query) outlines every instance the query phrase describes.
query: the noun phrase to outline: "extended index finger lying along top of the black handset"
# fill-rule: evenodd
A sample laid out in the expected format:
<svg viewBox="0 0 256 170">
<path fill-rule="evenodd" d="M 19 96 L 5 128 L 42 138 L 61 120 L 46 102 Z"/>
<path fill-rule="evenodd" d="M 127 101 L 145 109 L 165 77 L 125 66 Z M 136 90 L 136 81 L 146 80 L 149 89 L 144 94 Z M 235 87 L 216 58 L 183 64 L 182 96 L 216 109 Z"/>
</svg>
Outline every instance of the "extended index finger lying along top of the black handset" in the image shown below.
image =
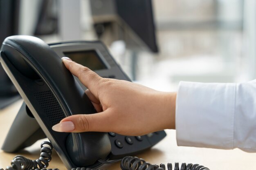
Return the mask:
<svg viewBox="0 0 256 170">
<path fill-rule="evenodd" d="M 78 77 L 82 84 L 85 85 L 85 87 L 90 89 L 92 93 L 97 94 L 97 82 L 100 82 L 99 80 L 101 79 L 99 75 L 90 70 L 88 67 L 73 62 L 71 59 L 63 58 L 62 61 L 66 68 L 74 76 Z"/>
</svg>

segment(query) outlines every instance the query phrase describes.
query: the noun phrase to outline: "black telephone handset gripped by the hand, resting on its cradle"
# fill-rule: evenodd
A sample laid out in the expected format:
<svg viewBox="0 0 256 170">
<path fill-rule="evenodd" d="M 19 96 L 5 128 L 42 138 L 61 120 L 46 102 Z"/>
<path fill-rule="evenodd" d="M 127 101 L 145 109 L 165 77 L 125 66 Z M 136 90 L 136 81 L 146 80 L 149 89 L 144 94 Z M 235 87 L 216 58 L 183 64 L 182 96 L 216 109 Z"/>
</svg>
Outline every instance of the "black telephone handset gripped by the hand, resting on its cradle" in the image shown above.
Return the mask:
<svg viewBox="0 0 256 170">
<path fill-rule="evenodd" d="M 31 36 L 11 36 L 3 42 L 1 63 L 67 168 L 96 167 L 98 159 L 106 159 L 111 151 L 107 133 L 52 130 L 64 117 L 96 110 L 49 45 Z M 45 115 L 44 107 L 55 113 Z"/>
</svg>

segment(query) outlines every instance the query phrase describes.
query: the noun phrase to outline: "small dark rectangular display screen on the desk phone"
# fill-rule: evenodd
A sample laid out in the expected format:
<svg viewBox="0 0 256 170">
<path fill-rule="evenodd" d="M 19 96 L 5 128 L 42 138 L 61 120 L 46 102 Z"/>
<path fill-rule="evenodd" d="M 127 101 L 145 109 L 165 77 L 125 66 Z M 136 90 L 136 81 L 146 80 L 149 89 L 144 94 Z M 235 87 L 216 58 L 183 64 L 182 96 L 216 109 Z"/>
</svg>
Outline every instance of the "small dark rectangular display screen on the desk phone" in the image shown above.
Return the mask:
<svg viewBox="0 0 256 170">
<path fill-rule="evenodd" d="M 94 50 L 64 52 L 64 55 L 69 57 L 74 62 L 82 64 L 83 66 L 86 66 L 93 71 L 107 68 L 97 52 Z"/>
</svg>

